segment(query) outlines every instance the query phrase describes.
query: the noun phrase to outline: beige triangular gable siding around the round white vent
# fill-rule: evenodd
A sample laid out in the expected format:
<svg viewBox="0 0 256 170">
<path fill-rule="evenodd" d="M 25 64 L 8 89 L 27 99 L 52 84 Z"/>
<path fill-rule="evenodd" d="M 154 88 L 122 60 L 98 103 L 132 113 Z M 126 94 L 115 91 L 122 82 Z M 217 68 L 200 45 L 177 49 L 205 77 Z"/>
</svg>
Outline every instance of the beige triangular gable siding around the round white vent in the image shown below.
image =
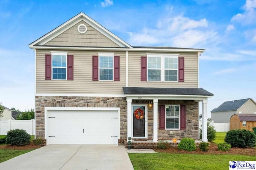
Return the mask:
<svg viewBox="0 0 256 170">
<path fill-rule="evenodd" d="M 85 24 L 87 31 L 84 34 L 78 32 L 77 27 Z M 80 47 L 120 47 L 108 37 L 88 25 L 84 21 L 80 21 L 64 33 L 58 35 L 44 45 L 60 45 L 60 46 L 80 46 Z"/>
</svg>

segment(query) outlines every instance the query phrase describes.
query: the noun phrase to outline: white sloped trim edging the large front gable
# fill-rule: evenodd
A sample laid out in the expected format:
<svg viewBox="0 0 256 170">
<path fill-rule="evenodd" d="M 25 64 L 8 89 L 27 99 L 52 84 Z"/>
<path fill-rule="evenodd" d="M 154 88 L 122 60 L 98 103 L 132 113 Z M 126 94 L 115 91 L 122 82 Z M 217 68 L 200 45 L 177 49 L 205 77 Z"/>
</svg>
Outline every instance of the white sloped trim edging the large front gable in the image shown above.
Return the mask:
<svg viewBox="0 0 256 170">
<path fill-rule="evenodd" d="M 98 31 L 100 34 L 107 37 L 110 41 L 114 42 L 119 47 L 132 48 L 128 43 L 126 43 L 125 41 L 123 41 L 122 39 L 120 39 L 119 37 L 114 35 L 112 32 L 108 31 L 108 29 L 106 29 L 105 27 L 103 27 L 102 25 L 100 25 L 99 23 L 94 21 L 92 18 L 90 18 L 89 16 L 87 16 L 83 12 L 77 14 L 76 16 L 71 18 L 70 20 L 66 21 L 62 25 L 58 26 L 57 28 L 53 29 L 49 33 L 40 37 L 36 41 L 30 43 L 29 47 L 33 48 L 33 46 L 35 46 L 35 45 L 40 45 L 40 46 L 46 45 L 48 42 L 55 39 L 56 37 L 58 37 L 59 35 L 61 35 L 65 31 L 67 31 L 68 29 L 74 27 L 76 24 L 78 24 L 81 21 L 85 22 L 87 25 L 90 25 L 90 28 L 92 27 L 93 29 Z M 114 46 L 114 47 L 116 47 L 116 46 Z"/>
</svg>

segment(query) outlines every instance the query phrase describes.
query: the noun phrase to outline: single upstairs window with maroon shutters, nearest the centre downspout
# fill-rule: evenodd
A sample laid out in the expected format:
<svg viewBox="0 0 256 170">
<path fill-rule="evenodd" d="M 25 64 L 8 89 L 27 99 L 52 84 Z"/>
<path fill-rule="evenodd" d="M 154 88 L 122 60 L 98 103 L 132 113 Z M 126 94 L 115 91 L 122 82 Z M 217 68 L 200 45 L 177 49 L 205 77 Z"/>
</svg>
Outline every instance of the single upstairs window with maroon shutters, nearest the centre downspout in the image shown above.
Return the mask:
<svg viewBox="0 0 256 170">
<path fill-rule="evenodd" d="M 99 53 L 99 77 L 100 80 L 113 80 L 114 54 Z"/>
</svg>

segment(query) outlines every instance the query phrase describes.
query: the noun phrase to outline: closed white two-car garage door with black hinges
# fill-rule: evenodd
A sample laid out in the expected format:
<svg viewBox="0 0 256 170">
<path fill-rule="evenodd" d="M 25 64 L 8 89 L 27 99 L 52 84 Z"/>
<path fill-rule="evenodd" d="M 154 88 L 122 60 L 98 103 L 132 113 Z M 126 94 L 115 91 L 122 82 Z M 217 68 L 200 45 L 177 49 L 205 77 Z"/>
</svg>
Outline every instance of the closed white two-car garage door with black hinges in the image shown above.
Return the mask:
<svg viewBox="0 0 256 170">
<path fill-rule="evenodd" d="M 49 145 L 118 145 L 118 111 L 49 110 Z"/>
</svg>

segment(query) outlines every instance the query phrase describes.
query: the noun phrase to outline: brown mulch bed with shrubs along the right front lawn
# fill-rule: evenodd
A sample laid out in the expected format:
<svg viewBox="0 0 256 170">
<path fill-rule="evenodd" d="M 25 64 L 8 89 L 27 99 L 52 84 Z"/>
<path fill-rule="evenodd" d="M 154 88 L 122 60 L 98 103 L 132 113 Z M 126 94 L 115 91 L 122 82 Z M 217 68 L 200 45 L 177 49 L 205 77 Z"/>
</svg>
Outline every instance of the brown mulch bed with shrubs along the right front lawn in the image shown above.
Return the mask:
<svg viewBox="0 0 256 170">
<path fill-rule="evenodd" d="M 182 153 L 182 154 L 238 154 L 238 155 L 256 155 L 256 148 L 231 148 L 228 151 L 218 150 L 215 143 L 210 143 L 209 150 L 207 152 L 201 151 L 199 147 L 196 147 L 195 151 L 179 150 L 177 147 L 170 147 L 167 150 L 154 149 L 156 152 L 166 153 Z"/>
</svg>

